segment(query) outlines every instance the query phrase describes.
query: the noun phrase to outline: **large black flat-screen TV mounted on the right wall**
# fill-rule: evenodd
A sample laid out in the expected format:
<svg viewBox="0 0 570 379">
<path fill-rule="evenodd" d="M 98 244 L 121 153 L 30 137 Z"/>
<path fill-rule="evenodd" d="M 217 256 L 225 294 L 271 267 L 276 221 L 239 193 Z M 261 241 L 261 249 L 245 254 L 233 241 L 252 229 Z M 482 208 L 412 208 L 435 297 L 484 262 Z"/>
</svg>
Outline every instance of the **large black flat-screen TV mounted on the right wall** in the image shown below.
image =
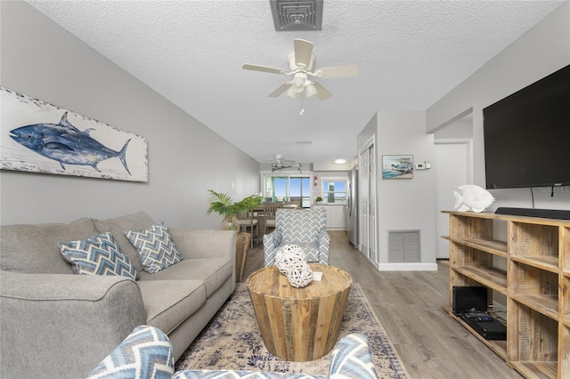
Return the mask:
<svg viewBox="0 0 570 379">
<path fill-rule="evenodd" d="M 570 185 L 570 65 L 483 117 L 487 189 Z"/>
</svg>

